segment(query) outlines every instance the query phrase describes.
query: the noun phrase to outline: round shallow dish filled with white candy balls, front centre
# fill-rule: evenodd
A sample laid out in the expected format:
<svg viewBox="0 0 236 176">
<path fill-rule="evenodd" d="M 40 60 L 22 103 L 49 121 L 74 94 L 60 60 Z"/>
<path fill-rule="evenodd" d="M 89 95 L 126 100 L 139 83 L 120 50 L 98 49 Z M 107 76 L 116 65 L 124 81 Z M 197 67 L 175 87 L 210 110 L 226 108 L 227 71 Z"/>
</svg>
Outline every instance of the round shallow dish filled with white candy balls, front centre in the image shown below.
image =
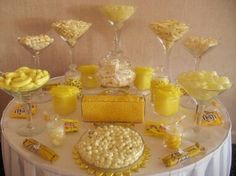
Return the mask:
<svg viewBox="0 0 236 176">
<path fill-rule="evenodd" d="M 103 169 L 132 165 L 143 154 L 142 137 L 122 126 L 105 125 L 87 132 L 77 144 L 82 160 Z"/>
</svg>

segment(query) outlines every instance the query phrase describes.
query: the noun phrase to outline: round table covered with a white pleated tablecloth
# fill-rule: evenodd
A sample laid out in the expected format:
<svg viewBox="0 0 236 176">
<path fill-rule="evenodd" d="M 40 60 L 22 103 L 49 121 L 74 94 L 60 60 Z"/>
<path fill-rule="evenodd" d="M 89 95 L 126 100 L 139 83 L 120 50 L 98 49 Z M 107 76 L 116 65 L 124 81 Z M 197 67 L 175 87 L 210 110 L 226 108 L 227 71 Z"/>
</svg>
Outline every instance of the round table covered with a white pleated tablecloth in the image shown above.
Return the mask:
<svg viewBox="0 0 236 176">
<path fill-rule="evenodd" d="M 147 147 L 150 149 L 151 157 L 146 163 L 145 168 L 140 168 L 134 176 L 228 176 L 231 167 L 231 122 L 224 106 L 218 101 L 220 112 L 224 116 L 224 125 L 215 127 L 204 127 L 201 130 L 202 138 L 199 141 L 183 139 L 183 148 L 199 142 L 206 149 L 205 154 L 185 160 L 177 166 L 166 168 L 161 158 L 173 152 L 163 147 L 162 140 L 157 137 L 146 136 L 144 125 L 137 124 L 135 129 L 143 136 Z M 40 143 L 52 148 L 59 159 L 54 162 L 48 162 L 34 153 L 23 148 L 22 142 L 25 137 L 16 133 L 17 127 L 23 123 L 24 119 L 14 119 L 10 113 L 16 101 L 13 99 L 3 112 L 2 126 L 2 154 L 6 176 L 83 176 L 88 175 L 86 171 L 81 170 L 79 165 L 73 160 L 72 149 L 80 136 L 89 128 L 94 128 L 93 124 L 82 122 L 80 104 L 76 112 L 63 117 L 78 119 L 81 121 L 79 132 L 66 134 L 65 142 L 60 147 L 52 146 L 47 130 L 42 134 L 34 136 Z M 43 112 L 54 113 L 52 103 L 38 105 L 38 113 L 33 120 L 38 123 L 46 122 L 43 118 Z M 191 126 L 193 111 L 181 108 L 181 113 L 186 114 L 183 126 Z M 158 120 L 159 117 L 153 113 L 153 107 L 149 101 L 146 101 L 145 120 Z"/>
</svg>

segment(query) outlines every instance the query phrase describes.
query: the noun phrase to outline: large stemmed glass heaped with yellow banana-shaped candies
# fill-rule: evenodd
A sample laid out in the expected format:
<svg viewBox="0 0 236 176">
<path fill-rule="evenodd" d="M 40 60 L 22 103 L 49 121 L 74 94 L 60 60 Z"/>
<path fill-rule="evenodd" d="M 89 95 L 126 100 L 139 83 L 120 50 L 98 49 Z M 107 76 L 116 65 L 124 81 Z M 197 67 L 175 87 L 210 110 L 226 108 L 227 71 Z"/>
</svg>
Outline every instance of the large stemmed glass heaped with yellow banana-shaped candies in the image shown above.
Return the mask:
<svg viewBox="0 0 236 176">
<path fill-rule="evenodd" d="M 0 88 L 7 94 L 13 96 L 17 101 L 23 103 L 26 109 L 28 122 L 22 126 L 19 126 L 19 128 L 17 128 L 17 133 L 21 136 L 35 136 L 37 134 L 40 134 L 44 130 L 44 127 L 41 124 L 34 123 L 32 121 L 32 97 L 34 96 L 34 93 L 37 93 L 37 90 L 39 90 L 42 86 L 44 86 L 47 83 L 50 77 L 49 74 L 46 73 L 46 75 L 41 77 L 40 80 L 35 79 L 35 81 L 37 82 L 36 83 L 32 81 L 32 77 L 27 76 L 29 79 L 27 79 L 27 82 L 26 81 L 23 82 L 22 81 L 23 79 L 26 80 L 25 79 L 26 72 L 24 72 L 24 70 L 27 70 L 27 74 L 29 75 L 31 74 L 31 76 L 33 75 L 33 72 L 31 72 L 31 70 L 26 67 L 21 67 L 21 69 L 18 70 L 19 73 L 17 72 L 3 73 L 0 77 Z M 35 71 L 36 70 L 34 70 L 34 72 Z M 42 74 L 44 73 L 42 72 Z M 15 75 L 17 74 L 18 76 L 15 77 Z M 14 84 L 12 83 L 14 79 L 21 80 L 20 83 L 18 82 L 19 84 L 18 86 L 22 87 L 18 86 L 14 88 L 11 87 Z M 8 83 L 6 82 L 6 80 L 8 80 Z M 11 83 L 9 83 L 9 81 L 11 81 Z"/>
</svg>

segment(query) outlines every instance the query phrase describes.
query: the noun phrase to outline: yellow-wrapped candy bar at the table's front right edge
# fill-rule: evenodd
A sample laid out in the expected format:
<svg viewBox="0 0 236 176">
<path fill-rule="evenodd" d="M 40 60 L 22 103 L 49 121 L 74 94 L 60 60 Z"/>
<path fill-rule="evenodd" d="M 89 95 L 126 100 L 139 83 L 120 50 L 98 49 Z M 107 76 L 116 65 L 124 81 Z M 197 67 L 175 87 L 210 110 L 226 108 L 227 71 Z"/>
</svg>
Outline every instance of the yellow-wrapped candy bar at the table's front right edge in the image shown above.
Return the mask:
<svg viewBox="0 0 236 176">
<path fill-rule="evenodd" d="M 189 146 L 182 151 L 176 151 L 174 153 L 171 153 L 170 155 L 165 156 L 164 158 L 162 158 L 162 162 L 166 167 L 175 166 L 181 161 L 195 157 L 203 153 L 204 151 L 205 148 L 196 143 L 195 145 Z"/>
</svg>

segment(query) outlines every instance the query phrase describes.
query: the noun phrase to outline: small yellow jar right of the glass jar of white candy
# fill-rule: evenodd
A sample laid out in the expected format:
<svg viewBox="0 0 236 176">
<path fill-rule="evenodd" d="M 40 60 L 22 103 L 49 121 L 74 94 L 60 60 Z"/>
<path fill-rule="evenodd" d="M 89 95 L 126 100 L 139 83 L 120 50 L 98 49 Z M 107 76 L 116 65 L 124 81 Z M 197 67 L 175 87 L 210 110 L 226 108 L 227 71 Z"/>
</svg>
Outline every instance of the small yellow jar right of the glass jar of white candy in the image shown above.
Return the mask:
<svg viewBox="0 0 236 176">
<path fill-rule="evenodd" d="M 136 77 L 134 85 L 139 90 L 148 90 L 151 88 L 153 69 L 151 67 L 136 67 Z"/>
</svg>

